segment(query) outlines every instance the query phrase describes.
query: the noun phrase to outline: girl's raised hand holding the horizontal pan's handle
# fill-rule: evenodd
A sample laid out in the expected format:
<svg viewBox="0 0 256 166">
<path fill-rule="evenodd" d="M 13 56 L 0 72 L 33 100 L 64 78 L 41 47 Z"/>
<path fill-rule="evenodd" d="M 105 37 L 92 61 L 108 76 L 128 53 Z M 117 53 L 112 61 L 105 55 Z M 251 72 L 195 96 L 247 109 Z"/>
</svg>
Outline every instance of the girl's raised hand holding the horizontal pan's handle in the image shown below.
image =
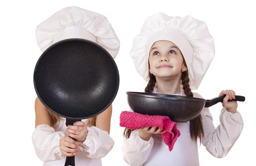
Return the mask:
<svg viewBox="0 0 256 166">
<path fill-rule="evenodd" d="M 222 106 L 230 113 L 236 113 L 237 101 L 228 101 L 235 98 L 236 93 L 233 90 L 222 90 L 219 96 L 226 95 L 223 99 Z"/>
</svg>

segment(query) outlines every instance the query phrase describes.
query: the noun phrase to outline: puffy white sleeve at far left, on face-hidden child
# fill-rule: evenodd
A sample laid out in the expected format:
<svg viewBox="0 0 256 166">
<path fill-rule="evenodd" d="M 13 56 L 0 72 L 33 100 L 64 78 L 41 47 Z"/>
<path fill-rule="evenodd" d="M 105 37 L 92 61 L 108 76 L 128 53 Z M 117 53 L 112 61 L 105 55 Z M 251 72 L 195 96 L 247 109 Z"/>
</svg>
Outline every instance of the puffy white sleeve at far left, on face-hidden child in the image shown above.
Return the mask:
<svg viewBox="0 0 256 166">
<path fill-rule="evenodd" d="M 47 124 L 38 125 L 32 133 L 32 143 L 38 158 L 43 162 L 63 159 L 65 156 L 60 149 L 62 137 L 64 132 L 55 132 Z"/>
</svg>

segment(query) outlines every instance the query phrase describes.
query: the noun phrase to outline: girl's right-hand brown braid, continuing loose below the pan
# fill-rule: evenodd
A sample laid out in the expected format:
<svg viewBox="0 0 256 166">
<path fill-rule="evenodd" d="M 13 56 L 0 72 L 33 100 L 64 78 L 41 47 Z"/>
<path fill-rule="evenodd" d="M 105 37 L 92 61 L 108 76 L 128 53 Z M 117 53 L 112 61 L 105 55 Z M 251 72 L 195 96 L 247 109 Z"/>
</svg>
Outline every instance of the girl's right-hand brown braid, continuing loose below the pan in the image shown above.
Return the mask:
<svg viewBox="0 0 256 166">
<path fill-rule="evenodd" d="M 193 93 L 191 92 L 189 86 L 189 72 L 188 70 L 183 71 L 181 74 L 181 82 L 183 85 L 183 90 L 186 96 L 193 97 Z M 204 130 L 202 124 L 202 117 L 201 114 L 198 115 L 195 119 L 190 121 L 190 137 L 193 141 L 197 141 L 199 138 L 201 144 L 201 138 L 204 137 Z"/>
</svg>

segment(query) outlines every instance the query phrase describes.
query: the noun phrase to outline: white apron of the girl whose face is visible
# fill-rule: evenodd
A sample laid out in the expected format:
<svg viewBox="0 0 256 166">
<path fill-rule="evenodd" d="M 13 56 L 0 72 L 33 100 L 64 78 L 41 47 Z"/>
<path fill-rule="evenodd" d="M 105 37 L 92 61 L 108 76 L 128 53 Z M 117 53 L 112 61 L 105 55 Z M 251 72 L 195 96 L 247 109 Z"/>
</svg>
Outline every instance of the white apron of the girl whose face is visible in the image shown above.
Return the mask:
<svg viewBox="0 0 256 166">
<path fill-rule="evenodd" d="M 190 138 L 189 124 L 189 121 L 177 123 L 180 137 L 177 138 L 171 152 L 163 137 L 153 134 L 154 145 L 143 166 L 199 166 L 198 145 Z"/>
</svg>

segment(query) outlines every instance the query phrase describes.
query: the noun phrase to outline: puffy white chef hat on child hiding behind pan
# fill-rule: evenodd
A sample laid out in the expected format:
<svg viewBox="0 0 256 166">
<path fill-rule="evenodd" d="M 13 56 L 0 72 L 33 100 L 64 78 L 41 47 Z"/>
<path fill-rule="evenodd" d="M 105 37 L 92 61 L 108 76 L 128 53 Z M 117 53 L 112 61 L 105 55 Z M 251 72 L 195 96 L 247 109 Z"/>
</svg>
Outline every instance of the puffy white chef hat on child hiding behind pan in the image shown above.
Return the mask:
<svg viewBox="0 0 256 166">
<path fill-rule="evenodd" d="M 41 51 L 63 39 L 87 39 L 105 48 L 116 57 L 120 42 L 111 23 L 102 14 L 76 6 L 62 8 L 36 28 L 36 39 Z"/>
</svg>

